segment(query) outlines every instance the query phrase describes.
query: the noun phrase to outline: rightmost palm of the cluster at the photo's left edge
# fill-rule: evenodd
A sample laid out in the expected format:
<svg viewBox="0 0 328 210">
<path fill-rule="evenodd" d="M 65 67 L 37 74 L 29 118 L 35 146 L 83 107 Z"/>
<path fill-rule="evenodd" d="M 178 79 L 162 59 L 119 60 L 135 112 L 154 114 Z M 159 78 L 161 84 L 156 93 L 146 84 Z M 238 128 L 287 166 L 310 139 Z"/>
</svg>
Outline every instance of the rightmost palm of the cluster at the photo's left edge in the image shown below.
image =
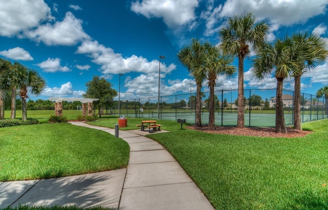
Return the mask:
<svg viewBox="0 0 328 210">
<path fill-rule="evenodd" d="M 17 87 L 19 89 L 19 96 L 22 98 L 22 120 L 27 119 L 27 104 L 26 99 L 28 90 L 34 95 L 42 92 L 46 85 L 46 81 L 33 69 L 28 69 L 22 64 L 15 64 L 15 75 L 17 76 Z"/>
</svg>

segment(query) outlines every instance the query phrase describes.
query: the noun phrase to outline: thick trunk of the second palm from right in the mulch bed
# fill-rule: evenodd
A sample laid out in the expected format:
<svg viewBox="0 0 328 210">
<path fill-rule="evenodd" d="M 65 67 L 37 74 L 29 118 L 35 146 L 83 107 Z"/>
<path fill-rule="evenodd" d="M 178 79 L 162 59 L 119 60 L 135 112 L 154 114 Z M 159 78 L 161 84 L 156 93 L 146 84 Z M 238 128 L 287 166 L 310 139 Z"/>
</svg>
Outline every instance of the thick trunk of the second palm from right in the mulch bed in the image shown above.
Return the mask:
<svg viewBox="0 0 328 210">
<path fill-rule="evenodd" d="M 282 82 L 283 78 L 277 78 L 276 92 L 276 133 L 287 133 L 285 119 L 283 116 L 283 101 L 282 101 Z"/>
</svg>

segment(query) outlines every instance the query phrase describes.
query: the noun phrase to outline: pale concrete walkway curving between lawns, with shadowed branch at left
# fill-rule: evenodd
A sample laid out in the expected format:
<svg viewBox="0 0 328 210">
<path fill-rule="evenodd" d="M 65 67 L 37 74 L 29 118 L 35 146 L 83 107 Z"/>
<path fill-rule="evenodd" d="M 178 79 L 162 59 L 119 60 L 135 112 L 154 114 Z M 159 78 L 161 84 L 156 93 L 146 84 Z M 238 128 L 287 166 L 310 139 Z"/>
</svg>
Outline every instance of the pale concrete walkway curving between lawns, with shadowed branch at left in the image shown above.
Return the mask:
<svg viewBox="0 0 328 210">
<path fill-rule="evenodd" d="M 84 122 L 74 125 L 114 129 Z M 166 131 L 161 131 L 166 132 Z M 214 209 L 197 185 L 148 131 L 119 131 L 130 145 L 128 169 L 54 179 L 0 182 L 0 208 L 19 204 L 101 205 L 114 209 Z M 152 134 L 156 135 L 156 133 Z"/>
</svg>

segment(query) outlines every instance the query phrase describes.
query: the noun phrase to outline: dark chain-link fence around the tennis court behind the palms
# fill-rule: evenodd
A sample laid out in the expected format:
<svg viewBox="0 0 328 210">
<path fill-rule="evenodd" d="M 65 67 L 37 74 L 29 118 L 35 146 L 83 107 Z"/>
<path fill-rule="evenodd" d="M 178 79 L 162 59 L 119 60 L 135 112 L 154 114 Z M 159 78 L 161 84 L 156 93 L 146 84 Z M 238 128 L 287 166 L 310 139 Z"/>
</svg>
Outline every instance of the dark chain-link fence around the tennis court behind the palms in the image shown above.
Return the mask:
<svg viewBox="0 0 328 210">
<path fill-rule="evenodd" d="M 196 93 L 170 96 L 134 98 L 120 101 L 120 113 L 128 117 L 166 119 L 186 119 L 195 123 Z M 237 90 L 215 91 L 215 124 L 237 125 Z M 286 125 L 293 125 L 294 91 L 283 90 L 284 119 Z M 276 89 L 244 90 L 244 122 L 246 127 L 275 127 Z M 118 115 L 118 101 L 106 114 Z M 301 122 L 328 118 L 327 101 L 324 97 L 301 93 Z M 201 122 L 209 120 L 209 92 L 202 93 Z"/>
</svg>

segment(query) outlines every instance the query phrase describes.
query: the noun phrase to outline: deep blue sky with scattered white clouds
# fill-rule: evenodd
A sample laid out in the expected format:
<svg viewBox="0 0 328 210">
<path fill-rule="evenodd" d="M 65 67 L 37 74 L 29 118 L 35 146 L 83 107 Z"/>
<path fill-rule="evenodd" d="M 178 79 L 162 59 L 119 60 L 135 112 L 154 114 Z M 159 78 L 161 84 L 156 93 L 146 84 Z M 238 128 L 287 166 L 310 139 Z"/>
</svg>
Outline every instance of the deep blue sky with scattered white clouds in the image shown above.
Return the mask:
<svg viewBox="0 0 328 210">
<path fill-rule="evenodd" d="M 106 78 L 120 99 L 190 93 L 194 79 L 176 54 L 192 38 L 218 44 L 218 30 L 229 17 L 253 12 L 270 26 L 269 40 L 295 31 L 327 38 L 328 0 L 0 0 L 0 57 L 35 69 L 46 88 L 30 99 L 79 98 L 94 75 Z M 244 88 L 275 88 L 268 77 L 252 78 L 245 60 Z M 237 66 L 237 60 L 234 65 Z M 328 85 L 328 61 L 302 76 L 302 92 Z M 203 92 L 208 91 L 207 81 Z M 236 90 L 237 75 L 219 77 L 216 90 Z M 294 90 L 293 78 L 284 89 Z M 196 85 L 191 91 L 196 92 Z"/>
</svg>

